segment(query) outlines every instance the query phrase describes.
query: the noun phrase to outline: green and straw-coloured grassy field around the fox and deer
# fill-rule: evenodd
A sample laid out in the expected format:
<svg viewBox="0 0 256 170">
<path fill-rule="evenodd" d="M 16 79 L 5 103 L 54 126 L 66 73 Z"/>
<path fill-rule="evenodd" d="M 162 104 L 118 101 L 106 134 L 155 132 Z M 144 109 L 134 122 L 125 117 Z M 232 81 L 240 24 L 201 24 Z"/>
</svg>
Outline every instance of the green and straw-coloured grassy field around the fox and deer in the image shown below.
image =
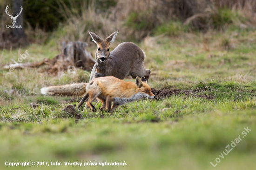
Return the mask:
<svg viewBox="0 0 256 170">
<path fill-rule="evenodd" d="M 40 68 L 0 69 L 0 169 L 79 169 L 65 166 L 70 161 L 88 163 L 80 169 L 90 170 L 254 170 L 255 37 L 255 29 L 237 27 L 218 33 L 147 37 L 138 45 L 146 52 L 146 68 L 152 71 L 149 85 L 190 93 L 141 100 L 113 113 L 80 111 L 83 118 L 78 122 L 57 116 L 81 98 L 43 96 L 40 88 L 88 82 L 90 72 L 73 69 L 54 77 Z M 110 50 L 118 43 L 117 36 Z M 59 53 L 54 40 L 2 50 L 1 65 L 13 63 L 26 50 L 29 55 L 22 63 Z M 89 50 L 94 53 L 96 46 Z M 38 106 L 32 108 L 31 103 Z M 247 127 L 251 131 L 246 132 Z M 232 141 L 237 143 L 231 150 Z M 227 145 L 230 153 L 225 155 Z M 30 166 L 5 165 L 25 161 Z M 33 161 L 62 166 L 32 166 Z M 127 165 L 99 164 L 104 162 Z"/>
</svg>

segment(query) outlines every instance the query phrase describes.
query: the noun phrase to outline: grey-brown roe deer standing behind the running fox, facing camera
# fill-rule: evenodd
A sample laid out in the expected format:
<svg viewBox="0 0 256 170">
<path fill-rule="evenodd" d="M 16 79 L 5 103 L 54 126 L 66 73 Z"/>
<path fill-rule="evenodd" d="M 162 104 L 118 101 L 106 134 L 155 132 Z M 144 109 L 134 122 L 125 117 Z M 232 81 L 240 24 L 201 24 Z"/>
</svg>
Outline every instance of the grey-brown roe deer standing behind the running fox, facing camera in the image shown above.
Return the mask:
<svg viewBox="0 0 256 170">
<path fill-rule="evenodd" d="M 146 56 L 139 46 L 132 42 L 123 42 L 112 52 L 109 51 L 109 46 L 115 40 L 117 33 L 118 30 L 106 39 L 101 39 L 98 35 L 89 31 L 98 47 L 90 82 L 94 78 L 105 76 L 114 76 L 119 79 L 124 79 L 127 76 L 132 76 L 132 78 L 144 76 L 148 81 L 151 71 L 145 69 L 144 59 Z"/>
</svg>

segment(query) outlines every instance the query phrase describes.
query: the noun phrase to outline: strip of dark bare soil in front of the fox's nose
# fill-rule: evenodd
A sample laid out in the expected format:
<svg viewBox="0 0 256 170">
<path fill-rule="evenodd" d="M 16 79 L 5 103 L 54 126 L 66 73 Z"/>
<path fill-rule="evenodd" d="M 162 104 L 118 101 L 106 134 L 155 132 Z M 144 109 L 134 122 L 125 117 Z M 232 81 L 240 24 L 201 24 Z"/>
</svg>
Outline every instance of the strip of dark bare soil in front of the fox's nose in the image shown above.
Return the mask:
<svg viewBox="0 0 256 170">
<path fill-rule="evenodd" d="M 172 95 L 179 95 L 179 94 L 185 94 L 186 96 L 194 96 L 195 98 L 206 98 L 206 99 L 214 99 L 214 96 L 206 95 L 206 94 L 197 94 L 198 92 L 201 92 L 199 90 L 181 90 L 181 89 L 161 89 L 156 90 L 154 88 L 151 88 L 151 92 L 155 94 L 156 100 L 163 100 L 165 98 L 168 98 Z"/>
</svg>

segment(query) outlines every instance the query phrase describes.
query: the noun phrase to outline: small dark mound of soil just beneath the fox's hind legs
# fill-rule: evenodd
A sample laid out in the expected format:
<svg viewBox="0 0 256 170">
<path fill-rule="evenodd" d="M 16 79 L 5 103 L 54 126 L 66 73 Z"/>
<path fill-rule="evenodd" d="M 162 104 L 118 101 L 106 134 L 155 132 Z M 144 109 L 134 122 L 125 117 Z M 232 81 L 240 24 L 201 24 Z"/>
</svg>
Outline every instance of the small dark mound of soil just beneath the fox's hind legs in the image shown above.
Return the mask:
<svg viewBox="0 0 256 170">
<path fill-rule="evenodd" d="M 60 114 L 57 115 L 57 118 L 75 118 L 76 120 L 82 119 L 83 116 L 81 113 L 75 110 L 73 105 L 67 105 Z"/>
</svg>

